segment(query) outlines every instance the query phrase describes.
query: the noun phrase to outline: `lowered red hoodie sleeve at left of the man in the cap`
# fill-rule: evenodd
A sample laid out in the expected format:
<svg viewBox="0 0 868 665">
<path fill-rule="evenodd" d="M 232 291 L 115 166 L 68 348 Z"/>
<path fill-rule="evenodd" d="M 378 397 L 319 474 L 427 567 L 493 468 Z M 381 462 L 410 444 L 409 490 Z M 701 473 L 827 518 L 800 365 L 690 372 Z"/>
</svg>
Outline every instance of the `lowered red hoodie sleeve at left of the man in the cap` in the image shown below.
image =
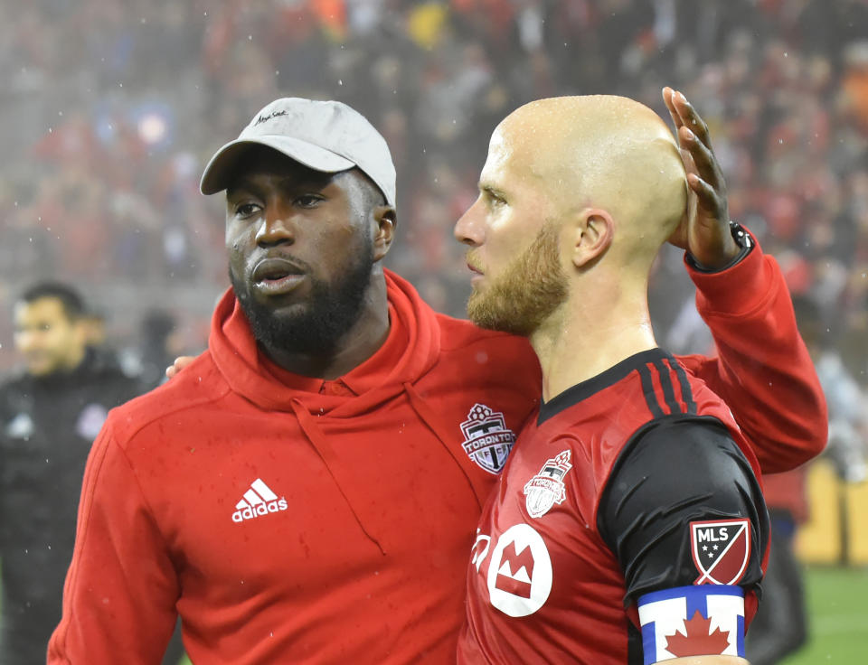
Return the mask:
<svg viewBox="0 0 868 665">
<path fill-rule="evenodd" d="M 109 421 L 110 423 L 110 421 Z M 107 425 L 84 475 L 63 614 L 49 665 L 159 665 L 175 626 L 178 583 L 135 470 Z"/>
</svg>

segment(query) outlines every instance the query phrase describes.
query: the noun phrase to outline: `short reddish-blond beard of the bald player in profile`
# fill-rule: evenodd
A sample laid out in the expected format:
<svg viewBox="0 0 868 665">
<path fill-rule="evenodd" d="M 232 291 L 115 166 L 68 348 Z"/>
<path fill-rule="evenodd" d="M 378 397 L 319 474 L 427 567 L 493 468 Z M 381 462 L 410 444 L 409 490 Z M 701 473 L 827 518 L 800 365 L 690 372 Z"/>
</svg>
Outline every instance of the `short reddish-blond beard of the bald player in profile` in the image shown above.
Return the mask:
<svg viewBox="0 0 868 665">
<path fill-rule="evenodd" d="M 484 291 L 474 289 L 467 317 L 480 328 L 528 337 L 563 303 L 569 292 L 561 268 L 560 233 L 547 222 L 531 246 Z"/>
</svg>

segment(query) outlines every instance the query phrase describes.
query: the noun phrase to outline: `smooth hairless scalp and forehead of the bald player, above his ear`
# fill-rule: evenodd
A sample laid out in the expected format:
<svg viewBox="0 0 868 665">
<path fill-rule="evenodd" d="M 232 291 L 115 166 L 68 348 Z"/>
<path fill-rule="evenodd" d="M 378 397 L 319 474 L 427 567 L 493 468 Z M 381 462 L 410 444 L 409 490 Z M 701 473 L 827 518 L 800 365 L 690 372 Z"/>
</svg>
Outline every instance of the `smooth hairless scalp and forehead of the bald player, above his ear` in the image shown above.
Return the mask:
<svg viewBox="0 0 868 665">
<path fill-rule="evenodd" d="M 556 218 L 583 208 L 609 211 L 618 223 L 613 245 L 634 262 L 637 252 L 653 258 L 686 211 L 675 138 L 633 99 L 592 95 L 526 104 L 495 129 L 489 163 L 498 161 L 545 192 Z"/>
</svg>

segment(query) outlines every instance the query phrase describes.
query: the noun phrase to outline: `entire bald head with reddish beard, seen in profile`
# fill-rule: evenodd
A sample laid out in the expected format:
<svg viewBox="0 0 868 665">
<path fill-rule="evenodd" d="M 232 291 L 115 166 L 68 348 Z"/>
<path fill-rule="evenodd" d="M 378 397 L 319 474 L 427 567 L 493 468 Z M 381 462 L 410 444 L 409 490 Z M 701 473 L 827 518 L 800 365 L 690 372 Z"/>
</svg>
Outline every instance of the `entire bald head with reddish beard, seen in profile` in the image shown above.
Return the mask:
<svg viewBox="0 0 868 665">
<path fill-rule="evenodd" d="M 607 307 L 645 299 L 686 210 L 681 154 L 650 108 L 611 96 L 518 108 L 495 129 L 479 198 L 455 228 L 476 273 L 467 314 L 530 336 L 591 306 L 601 285 L 614 285 Z"/>
</svg>

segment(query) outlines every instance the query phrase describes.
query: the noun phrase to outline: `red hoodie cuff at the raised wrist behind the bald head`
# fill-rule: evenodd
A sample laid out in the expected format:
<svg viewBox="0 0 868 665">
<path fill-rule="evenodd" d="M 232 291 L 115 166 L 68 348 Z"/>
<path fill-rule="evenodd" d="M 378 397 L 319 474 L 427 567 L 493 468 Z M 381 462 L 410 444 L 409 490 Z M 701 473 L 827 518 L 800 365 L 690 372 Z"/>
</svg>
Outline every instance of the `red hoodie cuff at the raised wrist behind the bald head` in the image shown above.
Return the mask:
<svg viewBox="0 0 868 665">
<path fill-rule="evenodd" d="M 696 305 L 702 314 L 746 314 L 753 311 L 768 296 L 768 276 L 759 243 L 750 237 L 750 244 L 742 245 L 739 258 L 728 267 L 706 272 L 694 267 L 684 255 L 687 274 L 696 285 Z"/>
</svg>

